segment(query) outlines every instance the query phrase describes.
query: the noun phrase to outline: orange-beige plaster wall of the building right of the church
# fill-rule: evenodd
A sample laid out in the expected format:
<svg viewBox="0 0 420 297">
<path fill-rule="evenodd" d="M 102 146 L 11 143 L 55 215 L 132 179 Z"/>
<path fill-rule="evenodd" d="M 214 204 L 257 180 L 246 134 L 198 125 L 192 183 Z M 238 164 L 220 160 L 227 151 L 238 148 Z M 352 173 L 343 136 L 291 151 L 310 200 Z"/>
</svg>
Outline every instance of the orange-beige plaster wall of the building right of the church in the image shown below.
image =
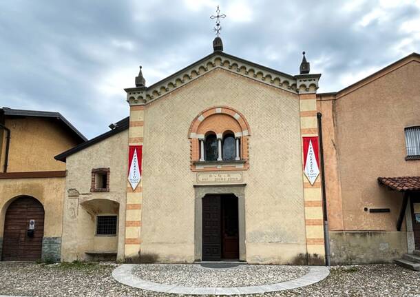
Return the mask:
<svg viewBox="0 0 420 297">
<path fill-rule="evenodd" d="M 331 230 L 396 230 L 402 194 L 379 186 L 377 178 L 419 175 L 420 161 L 405 160 L 404 136 L 404 127 L 420 125 L 419 81 L 419 61 L 402 61 L 339 92 L 335 101 L 318 101 Z"/>
</svg>

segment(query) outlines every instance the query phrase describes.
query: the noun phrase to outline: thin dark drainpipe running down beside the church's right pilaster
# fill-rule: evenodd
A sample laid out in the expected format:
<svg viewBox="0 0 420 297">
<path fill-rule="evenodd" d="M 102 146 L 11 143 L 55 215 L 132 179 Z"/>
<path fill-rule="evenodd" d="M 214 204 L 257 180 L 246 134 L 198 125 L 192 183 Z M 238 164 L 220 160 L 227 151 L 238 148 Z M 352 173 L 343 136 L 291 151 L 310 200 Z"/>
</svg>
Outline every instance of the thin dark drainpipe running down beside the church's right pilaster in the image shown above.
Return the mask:
<svg viewBox="0 0 420 297">
<path fill-rule="evenodd" d="M 326 192 L 325 192 L 325 174 L 324 174 L 324 145 L 322 144 L 322 113 L 317 113 L 318 134 L 319 134 L 319 158 L 321 161 L 321 186 L 322 186 L 322 214 L 324 216 L 324 245 L 326 266 L 331 265 L 330 261 L 330 236 L 328 234 L 328 217 L 326 211 Z"/>
</svg>

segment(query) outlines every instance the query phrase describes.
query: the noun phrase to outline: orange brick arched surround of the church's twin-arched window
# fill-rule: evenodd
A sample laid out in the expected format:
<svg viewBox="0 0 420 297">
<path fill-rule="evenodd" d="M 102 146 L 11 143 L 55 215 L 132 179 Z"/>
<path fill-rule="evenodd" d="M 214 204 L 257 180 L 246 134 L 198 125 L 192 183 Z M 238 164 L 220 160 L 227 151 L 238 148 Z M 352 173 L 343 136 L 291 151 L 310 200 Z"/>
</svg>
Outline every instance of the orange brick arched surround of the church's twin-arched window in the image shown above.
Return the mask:
<svg viewBox="0 0 420 297">
<path fill-rule="evenodd" d="M 240 156 L 245 161 L 244 167 L 229 167 L 226 170 L 247 170 L 249 168 L 249 136 L 251 129 L 244 115 L 229 106 L 213 106 L 200 112 L 191 121 L 188 138 L 191 144 L 191 170 L 196 171 L 195 162 L 200 159 L 200 143 L 207 131 L 223 134 L 230 131 L 240 137 Z"/>
</svg>

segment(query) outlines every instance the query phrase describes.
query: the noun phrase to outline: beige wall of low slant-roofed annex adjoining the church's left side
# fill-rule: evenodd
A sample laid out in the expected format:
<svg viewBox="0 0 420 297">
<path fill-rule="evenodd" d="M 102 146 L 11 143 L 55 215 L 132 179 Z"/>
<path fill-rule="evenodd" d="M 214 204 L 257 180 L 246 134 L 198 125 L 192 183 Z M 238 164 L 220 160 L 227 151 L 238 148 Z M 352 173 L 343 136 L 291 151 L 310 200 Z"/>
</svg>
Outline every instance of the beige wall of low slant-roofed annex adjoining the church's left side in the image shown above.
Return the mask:
<svg viewBox="0 0 420 297">
<path fill-rule="evenodd" d="M 85 260 L 90 251 L 117 251 L 124 258 L 127 143 L 125 130 L 67 157 L 62 260 Z M 110 169 L 109 192 L 92 193 L 91 172 L 100 167 Z M 95 236 L 96 214 L 118 214 L 117 236 Z"/>
</svg>

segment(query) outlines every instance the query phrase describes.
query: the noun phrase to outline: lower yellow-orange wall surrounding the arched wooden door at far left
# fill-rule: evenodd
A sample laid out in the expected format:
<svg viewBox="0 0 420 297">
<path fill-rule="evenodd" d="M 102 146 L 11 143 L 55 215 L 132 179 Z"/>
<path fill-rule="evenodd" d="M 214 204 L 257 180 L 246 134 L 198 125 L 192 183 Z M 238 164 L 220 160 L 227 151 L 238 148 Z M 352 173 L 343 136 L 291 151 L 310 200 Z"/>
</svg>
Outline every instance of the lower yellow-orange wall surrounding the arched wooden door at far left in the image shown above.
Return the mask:
<svg viewBox="0 0 420 297">
<path fill-rule="evenodd" d="M 42 203 L 45 211 L 44 237 L 60 237 L 63 223 L 64 178 L 0 179 L 0 237 L 3 237 L 4 216 L 10 203 L 28 195 Z"/>
</svg>

